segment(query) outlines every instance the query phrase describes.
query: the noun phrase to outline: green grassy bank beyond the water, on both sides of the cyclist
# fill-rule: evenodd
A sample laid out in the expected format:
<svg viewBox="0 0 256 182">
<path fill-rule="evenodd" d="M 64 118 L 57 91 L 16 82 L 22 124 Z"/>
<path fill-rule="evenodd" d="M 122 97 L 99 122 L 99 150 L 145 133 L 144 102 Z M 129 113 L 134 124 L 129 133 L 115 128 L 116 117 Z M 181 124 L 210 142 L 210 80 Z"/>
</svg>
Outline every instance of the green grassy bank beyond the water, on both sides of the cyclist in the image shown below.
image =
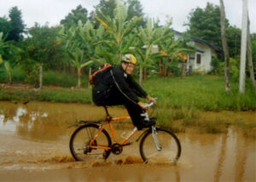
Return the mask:
<svg viewBox="0 0 256 182">
<path fill-rule="evenodd" d="M 50 75 L 50 74 L 49 74 Z M 53 73 L 50 76 L 55 82 L 62 82 Z M 54 78 L 55 77 L 55 78 Z M 45 78 L 46 79 L 46 78 Z M 51 81 L 53 82 L 53 81 Z M 91 91 L 87 83 L 83 89 L 49 87 L 41 92 L 32 88 L 12 88 L 5 85 L 0 88 L 0 100 L 38 100 L 52 102 L 91 103 Z M 9 87 L 9 88 L 8 88 Z M 158 97 L 158 105 L 162 108 L 192 109 L 202 111 L 255 111 L 256 92 L 247 84 L 246 94 L 239 94 L 238 83 L 231 82 L 230 94 L 224 91 L 224 78 L 217 76 L 191 76 L 173 78 L 152 78 L 143 82 L 148 94 Z"/>
</svg>

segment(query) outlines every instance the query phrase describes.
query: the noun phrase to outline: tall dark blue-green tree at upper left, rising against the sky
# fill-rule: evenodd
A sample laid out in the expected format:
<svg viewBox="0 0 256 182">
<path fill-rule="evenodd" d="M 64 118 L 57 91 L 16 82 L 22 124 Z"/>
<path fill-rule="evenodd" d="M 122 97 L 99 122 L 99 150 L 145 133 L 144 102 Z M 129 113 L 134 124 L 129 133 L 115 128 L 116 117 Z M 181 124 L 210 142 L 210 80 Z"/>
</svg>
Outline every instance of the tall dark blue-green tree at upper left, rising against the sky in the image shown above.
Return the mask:
<svg viewBox="0 0 256 182">
<path fill-rule="evenodd" d="M 19 41 L 22 38 L 22 33 L 25 32 L 25 24 L 21 19 L 21 11 L 16 6 L 9 10 L 9 19 L 11 31 L 9 31 L 7 40 Z"/>
</svg>

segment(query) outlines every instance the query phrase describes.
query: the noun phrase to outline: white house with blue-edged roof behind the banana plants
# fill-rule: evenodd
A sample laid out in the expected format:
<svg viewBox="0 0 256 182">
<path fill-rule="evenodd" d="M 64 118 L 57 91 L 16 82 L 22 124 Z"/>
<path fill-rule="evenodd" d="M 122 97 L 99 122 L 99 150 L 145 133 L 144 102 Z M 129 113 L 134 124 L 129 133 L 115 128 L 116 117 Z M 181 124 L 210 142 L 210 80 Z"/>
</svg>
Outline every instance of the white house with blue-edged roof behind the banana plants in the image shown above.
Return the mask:
<svg viewBox="0 0 256 182">
<path fill-rule="evenodd" d="M 181 36 L 181 33 L 176 32 L 176 38 Z M 217 54 L 222 52 L 222 49 L 212 43 L 208 43 L 198 37 L 190 36 L 191 45 L 195 47 L 195 53 L 188 55 L 187 71 L 204 71 L 212 70 L 212 59 L 217 58 Z"/>
</svg>

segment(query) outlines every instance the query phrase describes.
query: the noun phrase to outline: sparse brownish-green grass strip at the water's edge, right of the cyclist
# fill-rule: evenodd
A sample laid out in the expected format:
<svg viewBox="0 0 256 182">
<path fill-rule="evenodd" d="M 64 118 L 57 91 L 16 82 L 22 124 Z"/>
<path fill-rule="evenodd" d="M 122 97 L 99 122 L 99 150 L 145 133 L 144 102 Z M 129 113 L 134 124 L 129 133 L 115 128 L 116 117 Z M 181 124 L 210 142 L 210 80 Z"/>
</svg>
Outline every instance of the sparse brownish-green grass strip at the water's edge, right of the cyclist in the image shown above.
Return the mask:
<svg viewBox="0 0 256 182">
<path fill-rule="evenodd" d="M 227 133 L 230 126 L 241 128 L 246 137 L 256 139 L 255 111 L 201 111 L 193 108 L 157 108 L 158 125 L 173 132 L 194 128 L 198 133 Z"/>
</svg>

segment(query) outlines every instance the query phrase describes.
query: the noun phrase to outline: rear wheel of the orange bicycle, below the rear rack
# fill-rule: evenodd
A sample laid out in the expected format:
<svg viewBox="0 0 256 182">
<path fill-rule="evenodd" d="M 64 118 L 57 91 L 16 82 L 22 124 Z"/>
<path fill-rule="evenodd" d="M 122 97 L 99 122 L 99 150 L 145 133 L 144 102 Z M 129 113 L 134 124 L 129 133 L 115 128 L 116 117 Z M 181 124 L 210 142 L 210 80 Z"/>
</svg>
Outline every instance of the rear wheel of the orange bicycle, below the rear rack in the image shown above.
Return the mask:
<svg viewBox="0 0 256 182">
<path fill-rule="evenodd" d="M 96 159 L 107 159 L 110 151 L 104 149 L 93 149 L 90 147 L 90 141 L 99 131 L 100 126 L 96 124 L 86 124 L 77 128 L 69 141 L 69 149 L 72 156 L 77 161 L 90 161 Z M 102 133 L 93 142 L 94 146 L 111 146 L 111 139 L 108 132 L 103 129 Z"/>
</svg>

